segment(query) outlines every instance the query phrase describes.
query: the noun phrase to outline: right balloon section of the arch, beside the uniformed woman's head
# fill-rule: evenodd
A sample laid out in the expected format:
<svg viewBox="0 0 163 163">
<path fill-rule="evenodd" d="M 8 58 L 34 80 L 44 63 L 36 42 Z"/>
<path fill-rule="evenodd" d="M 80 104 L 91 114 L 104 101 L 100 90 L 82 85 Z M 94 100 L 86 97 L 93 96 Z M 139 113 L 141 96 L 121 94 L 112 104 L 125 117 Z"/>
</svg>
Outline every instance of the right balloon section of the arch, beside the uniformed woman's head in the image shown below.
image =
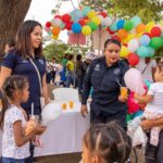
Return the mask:
<svg viewBox="0 0 163 163">
<path fill-rule="evenodd" d="M 138 16 L 116 22 L 116 37 L 122 41 L 121 57 L 130 65 L 137 65 L 139 58 L 151 58 L 163 47 L 163 25 L 149 22 L 143 24 Z M 115 37 L 115 36 L 114 36 Z"/>
</svg>

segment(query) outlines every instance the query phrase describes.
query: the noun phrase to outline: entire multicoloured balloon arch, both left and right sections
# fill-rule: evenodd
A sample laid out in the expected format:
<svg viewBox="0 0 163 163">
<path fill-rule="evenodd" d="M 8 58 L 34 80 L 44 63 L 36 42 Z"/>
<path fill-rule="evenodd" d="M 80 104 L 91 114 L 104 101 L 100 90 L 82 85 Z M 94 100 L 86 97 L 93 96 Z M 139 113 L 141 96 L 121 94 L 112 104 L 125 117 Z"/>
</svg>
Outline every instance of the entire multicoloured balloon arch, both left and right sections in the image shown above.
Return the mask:
<svg viewBox="0 0 163 163">
<path fill-rule="evenodd" d="M 153 57 L 155 50 L 163 47 L 163 21 L 143 24 L 138 16 L 115 21 L 108 13 L 95 12 L 89 7 L 54 15 L 45 26 L 45 30 L 53 39 L 58 39 L 60 32 L 64 29 L 89 36 L 99 28 L 108 30 L 112 38 L 122 42 L 121 57 L 128 58 L 130 65 L 136 65 L 139 58 Z"/>
</svg>

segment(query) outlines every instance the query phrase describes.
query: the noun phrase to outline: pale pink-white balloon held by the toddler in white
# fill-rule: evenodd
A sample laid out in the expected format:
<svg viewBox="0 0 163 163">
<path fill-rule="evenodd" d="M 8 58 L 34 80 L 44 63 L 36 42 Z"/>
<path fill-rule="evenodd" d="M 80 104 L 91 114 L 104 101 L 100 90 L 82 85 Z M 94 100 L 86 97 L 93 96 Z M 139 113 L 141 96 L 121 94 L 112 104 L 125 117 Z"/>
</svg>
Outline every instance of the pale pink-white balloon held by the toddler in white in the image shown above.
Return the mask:
<svg viewBox="0 0 163 163">
<path fill-rule="evenodd" d="M 143 79 L 140 71 L 137 68 L 129 68 L 124 76 L 126 87 L 131 91 L 139 95 L 145 95 L 146 89 L 143 88 Z"/>
</svg>

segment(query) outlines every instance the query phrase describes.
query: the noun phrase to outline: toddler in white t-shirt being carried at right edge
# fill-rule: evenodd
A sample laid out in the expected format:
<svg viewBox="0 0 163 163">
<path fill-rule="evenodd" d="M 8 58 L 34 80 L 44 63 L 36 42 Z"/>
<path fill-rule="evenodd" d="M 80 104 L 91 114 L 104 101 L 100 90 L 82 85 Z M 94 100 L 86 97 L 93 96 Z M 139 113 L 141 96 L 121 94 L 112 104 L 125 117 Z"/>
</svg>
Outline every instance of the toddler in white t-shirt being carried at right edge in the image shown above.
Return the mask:
<svg viewBox="0 0 163 163">
<path fill-rule="evenodd" d="M 154 73 L 155 83 L 150 85 L 146 96 L 135 95 L 139 103 L 147 103 L 143 116 L 147 120 L 163 117 L 163 62 L 160 62 Z M 150 143 L 158 146 L 161 127 L 151 128 Z"/>
</svg>

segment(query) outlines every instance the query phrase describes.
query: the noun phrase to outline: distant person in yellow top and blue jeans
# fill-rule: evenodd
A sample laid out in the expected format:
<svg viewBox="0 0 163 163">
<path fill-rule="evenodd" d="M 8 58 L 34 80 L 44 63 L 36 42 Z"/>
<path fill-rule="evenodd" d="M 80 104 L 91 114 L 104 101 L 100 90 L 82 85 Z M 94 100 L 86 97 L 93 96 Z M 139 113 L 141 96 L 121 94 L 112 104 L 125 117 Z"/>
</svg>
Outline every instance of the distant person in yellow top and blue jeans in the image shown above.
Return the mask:
<svg viewBox="0 0 163 163">
<path fill-rule="evenodd" d="M 74 84 L 74 62 L 73 62 L 73 54 L 68 55 L 68 61 L 66 63 L 66 83 L 65 87 L 70 87 L 71 84 Z"/>
</svg>

